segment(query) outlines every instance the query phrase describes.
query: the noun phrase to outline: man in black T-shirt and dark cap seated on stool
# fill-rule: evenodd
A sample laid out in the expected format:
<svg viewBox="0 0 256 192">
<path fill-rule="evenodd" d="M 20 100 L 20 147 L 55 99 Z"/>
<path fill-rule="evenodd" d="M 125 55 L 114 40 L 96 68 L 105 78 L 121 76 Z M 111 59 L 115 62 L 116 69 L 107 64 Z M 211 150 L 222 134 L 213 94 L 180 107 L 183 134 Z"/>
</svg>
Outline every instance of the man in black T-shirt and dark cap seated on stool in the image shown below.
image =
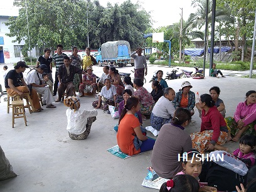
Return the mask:
<svg viewBox="0 0 256 192">
<path fill-rule="evenodd" d="M 6 92 L 11 95 L 20 95 L 23 97 L 23 93 L 30 93 L 28 85 L 24 81 L 23 72 L 29 68 L 28 65 L 24 61 L 19 61 L 17 65 L 14 67 L 14 70 L 10 70 L 6 77 L 4 78 L 4 86 L 6 87 Z M 40 102 L 38 99 L 38 95 L 36 90 L 31 89 L 30 93 L 31 100 L 33 102 L 33 106 L 35 111 L 40 112 Z"/>
</svg>

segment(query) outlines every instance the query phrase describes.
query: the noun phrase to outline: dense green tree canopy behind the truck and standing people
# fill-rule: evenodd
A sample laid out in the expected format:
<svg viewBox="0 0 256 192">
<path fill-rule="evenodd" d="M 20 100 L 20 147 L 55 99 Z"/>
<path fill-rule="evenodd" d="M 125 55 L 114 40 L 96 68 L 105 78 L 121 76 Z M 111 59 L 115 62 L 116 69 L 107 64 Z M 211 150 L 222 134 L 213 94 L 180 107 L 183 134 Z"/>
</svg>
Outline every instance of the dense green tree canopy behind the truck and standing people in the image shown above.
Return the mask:
<svg viewBox="0 0 256 192">
<path fill-rule="evenodd" d="M 88 32 L 91 48 L 99 48 L 106 41 L 126 40 L 134 49 L 142 45 L 144 31 L 151 26 L 149 13 L 130 0 L 114 6 L 109 3 L 107 8 L 99 1 L 83 0 L 27 0 L 27 9 L 24 0 L 14 0 L 14 5 L 20 8 L 19 16 L 6 22 L 8 36 L 15 36 L 18 42 L 24 40 L 24 50 L 29 48 L 26 10 L 31 48 L 55 49 L 62 44 L 65 49 L 72 46 L 84 49 Z"/>
</svg>

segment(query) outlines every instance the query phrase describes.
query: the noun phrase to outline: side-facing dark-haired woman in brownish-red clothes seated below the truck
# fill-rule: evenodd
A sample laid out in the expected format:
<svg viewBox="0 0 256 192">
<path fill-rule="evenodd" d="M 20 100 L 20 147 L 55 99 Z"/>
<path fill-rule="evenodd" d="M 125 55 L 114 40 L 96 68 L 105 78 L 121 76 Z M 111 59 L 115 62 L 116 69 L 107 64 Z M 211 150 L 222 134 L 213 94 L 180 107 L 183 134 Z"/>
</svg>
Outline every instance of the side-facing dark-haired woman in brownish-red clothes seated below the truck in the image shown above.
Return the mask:
<svg viewBox="0 0 256 192">
<path fill-rule="evenodd" d="M 115 67 L 109 68 L 109 79 L 112 85 L 115 85 L 117 88 L 117 95 L 121 95 L 122 91 L 124 90 L 124 84 L 122 83 L 122 80 L 120 78 L 120 75 L 118 73 L 118 70 L 115 69 Z"/>
</svg>

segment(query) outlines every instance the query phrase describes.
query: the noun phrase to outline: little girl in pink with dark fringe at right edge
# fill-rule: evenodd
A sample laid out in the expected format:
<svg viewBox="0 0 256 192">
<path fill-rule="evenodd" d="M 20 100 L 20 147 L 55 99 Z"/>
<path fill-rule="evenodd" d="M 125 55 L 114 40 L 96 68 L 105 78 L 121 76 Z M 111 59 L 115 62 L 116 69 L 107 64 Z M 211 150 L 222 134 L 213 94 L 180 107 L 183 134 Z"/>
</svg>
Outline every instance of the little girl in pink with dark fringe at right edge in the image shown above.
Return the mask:
<svg viewBox="0 0 256 192">
<path fill-rule="evenodd" d="M 233 155 L 240 158 L 248 167 L 255 164 L 255 136 L 245 135 L 239 141 L 239 148 L 233 151 Z"/>
</svg>

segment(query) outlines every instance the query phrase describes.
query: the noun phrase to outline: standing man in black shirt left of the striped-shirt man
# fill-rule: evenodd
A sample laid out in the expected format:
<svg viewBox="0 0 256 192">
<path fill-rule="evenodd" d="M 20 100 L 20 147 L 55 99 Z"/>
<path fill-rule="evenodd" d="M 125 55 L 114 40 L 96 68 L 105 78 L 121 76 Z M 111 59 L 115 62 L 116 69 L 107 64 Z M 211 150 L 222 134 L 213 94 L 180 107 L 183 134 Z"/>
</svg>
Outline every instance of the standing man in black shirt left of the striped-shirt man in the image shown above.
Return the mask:
<svg viewBox="0 0 256 192">
<path fill-rule="evenodd" d="M 51 82 L 53 82 L 53 76 L 51 75 L 52 72 L 52 62 L 53 62 L 53 58 L 51 58 L 51 50 L 49 48 L 45 48 L 44 50 L 45 55 L 42 55 L 38 58 L 38 60 L 36 61 L 36 67 L 38 67 L 41 64 L 45 64 L 47 66 L 47 74 L 49 79 L 51 80 Z"/>
</svg>

